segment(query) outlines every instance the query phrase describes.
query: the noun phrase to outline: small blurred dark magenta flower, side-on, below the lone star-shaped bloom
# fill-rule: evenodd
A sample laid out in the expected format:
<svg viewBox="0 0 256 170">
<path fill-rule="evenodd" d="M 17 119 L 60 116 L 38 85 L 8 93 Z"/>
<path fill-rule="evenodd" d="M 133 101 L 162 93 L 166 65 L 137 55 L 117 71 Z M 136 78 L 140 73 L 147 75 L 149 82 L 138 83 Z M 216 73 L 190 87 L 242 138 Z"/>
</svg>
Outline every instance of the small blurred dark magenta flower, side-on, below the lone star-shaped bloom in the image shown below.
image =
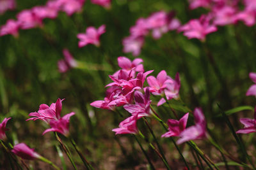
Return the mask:
<svg viewBox="0 0 256 170">
<path fill-rule="evenodd" d="M 65 73 L 68 71 L 68 69 L 77 66 L 77 61 L 66 48 L 63 49 L 63 55 L 65 58 L 62 60 L 58 60 L 58 69 L 60 73 Z"/>
</svg>

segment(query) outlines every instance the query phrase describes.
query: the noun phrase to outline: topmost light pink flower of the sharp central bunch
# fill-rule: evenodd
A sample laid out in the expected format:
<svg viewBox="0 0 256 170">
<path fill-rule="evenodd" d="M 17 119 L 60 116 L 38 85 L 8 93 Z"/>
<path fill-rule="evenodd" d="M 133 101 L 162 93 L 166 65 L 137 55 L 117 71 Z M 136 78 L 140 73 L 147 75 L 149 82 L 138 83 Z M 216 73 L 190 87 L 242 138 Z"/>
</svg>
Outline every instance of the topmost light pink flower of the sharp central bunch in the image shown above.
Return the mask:
<svg viewBox="0 0 256 170">
<path fill-rule="evenodd" d="M 122 69 L 125 69 L 126 71 L 130 71 L 131 69 L 134 69 L 137 72 L 144 72 L 143 64 L 140 64 L 143 62 L 143 59 L 134 59 L 132 62 L 127 57 L 118 57 L 117 58 L 118 66 Z"/>
</svg>

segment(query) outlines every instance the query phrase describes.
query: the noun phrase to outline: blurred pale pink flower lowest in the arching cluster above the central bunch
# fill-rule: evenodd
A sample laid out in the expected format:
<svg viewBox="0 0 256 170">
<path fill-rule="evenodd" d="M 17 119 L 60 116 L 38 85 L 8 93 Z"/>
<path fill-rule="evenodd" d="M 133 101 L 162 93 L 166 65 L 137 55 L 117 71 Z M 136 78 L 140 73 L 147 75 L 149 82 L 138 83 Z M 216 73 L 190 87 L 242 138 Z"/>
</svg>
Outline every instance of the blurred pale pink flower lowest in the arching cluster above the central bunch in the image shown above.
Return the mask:
<svg viewBox="0 0 256 170">
<path fill-rule="evenodd" d="M 123 39 L 123 45 L 124 45 L 123 51 L 125 53 L 132 52 L 132 55 L 138 56 L 141 52 L 143 43 L 144 43 L 144 38 L 142 36 L 138 36 L 138 37 L 129 36 Z"/>
</svg>

